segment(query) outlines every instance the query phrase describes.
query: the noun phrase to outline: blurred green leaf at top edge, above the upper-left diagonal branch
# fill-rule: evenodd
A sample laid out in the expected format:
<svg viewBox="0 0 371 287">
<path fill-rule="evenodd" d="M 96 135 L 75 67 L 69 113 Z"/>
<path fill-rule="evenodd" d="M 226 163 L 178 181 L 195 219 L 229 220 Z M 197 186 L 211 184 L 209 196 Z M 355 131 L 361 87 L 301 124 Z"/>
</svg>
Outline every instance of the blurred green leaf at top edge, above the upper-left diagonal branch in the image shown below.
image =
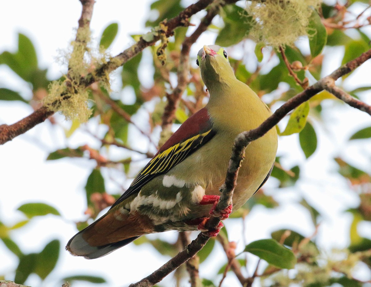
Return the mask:
<svg viewBox="0 0 371 287">
<path fill-rule="evenodd" d="M 158 17 L 156 20 L 148 20 L 145 26 L 157 26 L 160 21 L 164 19 L 171 19 L 183 10 L 180 5 L 180 0 L 158 0 L 151 4 L 151 10 L 158 11 Z"/>
</svg>

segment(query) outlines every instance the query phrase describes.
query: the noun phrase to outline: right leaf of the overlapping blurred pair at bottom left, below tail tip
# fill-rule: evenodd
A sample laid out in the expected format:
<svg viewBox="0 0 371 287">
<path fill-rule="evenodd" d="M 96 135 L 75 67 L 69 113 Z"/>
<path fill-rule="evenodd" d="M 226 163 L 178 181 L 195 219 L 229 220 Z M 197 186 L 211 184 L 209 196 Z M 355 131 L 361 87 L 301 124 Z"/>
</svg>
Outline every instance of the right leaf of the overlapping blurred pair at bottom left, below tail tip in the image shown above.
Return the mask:
<svg viewBox="0 0 371 287">
<path fill-rule="evenodd" d="M 42 280 L 52 272 L 57 264 L 59 257 L 59 240 L 52 240 L 44 249 L 37 254 L 37 261 L 34 272 L 40 276 Z"/>
</svg>

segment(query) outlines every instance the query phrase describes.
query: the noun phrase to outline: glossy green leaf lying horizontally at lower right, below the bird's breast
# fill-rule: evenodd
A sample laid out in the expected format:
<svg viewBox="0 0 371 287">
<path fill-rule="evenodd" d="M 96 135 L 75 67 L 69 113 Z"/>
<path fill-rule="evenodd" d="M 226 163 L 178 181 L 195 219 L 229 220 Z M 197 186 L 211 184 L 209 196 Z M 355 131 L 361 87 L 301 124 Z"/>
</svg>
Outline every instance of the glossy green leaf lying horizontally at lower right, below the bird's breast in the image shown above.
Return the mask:
<svg viewBox="0 0 371 287">
<path fill-rule="evenodd" d="M 274 239 L 261 239 L 246 245 L 245 252 L 250 252 L 278 268 L 291 269 L 296 264 L 296 257 L 289 249 Z"/>
</svg>

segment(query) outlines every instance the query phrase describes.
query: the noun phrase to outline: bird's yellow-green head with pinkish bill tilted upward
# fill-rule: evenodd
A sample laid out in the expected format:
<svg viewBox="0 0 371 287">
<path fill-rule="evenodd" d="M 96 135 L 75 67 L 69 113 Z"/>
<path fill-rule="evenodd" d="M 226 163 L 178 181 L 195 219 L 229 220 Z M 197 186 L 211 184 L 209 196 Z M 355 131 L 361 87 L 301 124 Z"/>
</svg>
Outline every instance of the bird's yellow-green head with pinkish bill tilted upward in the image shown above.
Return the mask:
<svg viewBox="0 0 371 287">
<path fill-rule="evenodd" d="M 216 83 L 228 83 L 231 77 L 235 78 L 227 52 L 220 46 L 204 45 L 198 51 L 196 63 L 200 66 L 202 80 L 209 90 Z"/>
</svg>

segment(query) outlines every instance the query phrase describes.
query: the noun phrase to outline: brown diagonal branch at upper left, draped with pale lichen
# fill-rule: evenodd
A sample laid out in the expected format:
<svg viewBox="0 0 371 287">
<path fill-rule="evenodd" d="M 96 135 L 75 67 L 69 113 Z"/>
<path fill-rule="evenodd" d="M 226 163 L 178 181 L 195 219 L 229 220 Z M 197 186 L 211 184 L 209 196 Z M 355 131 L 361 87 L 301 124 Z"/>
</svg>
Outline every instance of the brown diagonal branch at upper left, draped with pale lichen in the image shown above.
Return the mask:
<svg viewBox="0 0 371 287">
<path fill-rule="evenodd" d="M 235 3 L 237 0 L 227 0 L 226 3 Z M 178 16 L 164 21 L 163 27 L 166 31 L 162 31 L 165 33 L 166 37 L 171 36 L 174 33 L 174 29 L 177 27 L 185 27 L 189 26 L 189 18 L 196 14 L 197 12 L 205 9 L 209 4 L 211 4 L 213 0 L 199 0 L 198 2 L 191 4 L 187 8 L 185 8 Z M 92 0 L 81 0 L 82 3 L 82 13 L 81 18 L 79 20 L 79 27 L 81 25 L 89 24 L 90 19 L 92 16 L 92 5 L 94 1 Z M 161 31 L 158 31 L 161 32 Z M 77 36 L 77 35 L 76 35 Z M 113 57 L 110 61 L 101 66 L 97 67 L 97 69 L 93 73 L 87 74 L 85 77 L 81 77 L 80 84 L 83 87 L 88 87 L 92 83 L 96 81 L 101 76 L 105 74 L 109 74 L 112 71 L 116 70 L 118 67 L 125 64 L 128 60 L 132 57 L 136 56 L 142 50 L 144 50 L 148 46 L 154 45 L 158 40 L 160 40 L 160 34 L 153 34 L 152 41 L 145 41 L 143 37 L 139 39 L 137 43 L 129 47 L 128 49 L 124 50 L 122 53 L 118 54 L 117 56 Z M 7 141 L 14 139 L 14 137 L 19 136 L 20 134 L 25 133 L 26 131 L 32 129 L 37 124 L 42 123 L 47 119 L 47 117 L 51 116 L 54 112 L 48 110 L 46 107 L 41 107 L 40 109 L 36 110 L 30 116 L 25 117 L 23 120 L 14 123 L 12 125 L 3 124 L 0 126 L 0 144 L 4 144 Z"/>
</svg>

